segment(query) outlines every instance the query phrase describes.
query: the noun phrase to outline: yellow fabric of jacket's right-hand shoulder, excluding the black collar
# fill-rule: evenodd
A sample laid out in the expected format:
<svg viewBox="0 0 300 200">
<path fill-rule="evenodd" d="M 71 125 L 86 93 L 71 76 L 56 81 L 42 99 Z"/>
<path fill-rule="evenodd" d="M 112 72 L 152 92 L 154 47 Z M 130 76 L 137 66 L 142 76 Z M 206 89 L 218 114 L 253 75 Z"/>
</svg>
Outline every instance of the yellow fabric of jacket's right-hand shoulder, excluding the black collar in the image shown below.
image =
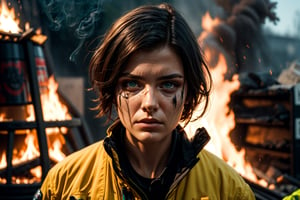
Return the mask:
<svg viewBox="0 0 300 200">
<path fill-rule="evenodd" d="M 182 182 L 182 185 L 189 187 L 184 186 L 182 190 L 209 199 L 255 199 L 242 176 L 224 160 L 205 149 L 198 157 L 200 160 Z"/>
</svg>

